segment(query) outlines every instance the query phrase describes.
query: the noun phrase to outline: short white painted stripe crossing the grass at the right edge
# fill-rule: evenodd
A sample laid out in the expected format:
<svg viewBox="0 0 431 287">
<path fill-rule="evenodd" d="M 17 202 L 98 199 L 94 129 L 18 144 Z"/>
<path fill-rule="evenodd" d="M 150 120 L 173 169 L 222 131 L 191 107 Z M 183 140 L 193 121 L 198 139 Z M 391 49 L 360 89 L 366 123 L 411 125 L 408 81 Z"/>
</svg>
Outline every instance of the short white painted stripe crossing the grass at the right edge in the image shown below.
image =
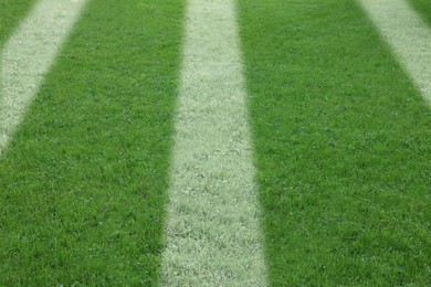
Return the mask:
<svg viewBox="0 0 431 287">
<path fill-rule="evenodd" d="M 404 0 L 358 0 L 431 104 L 431 30 Z"/>
</svg>

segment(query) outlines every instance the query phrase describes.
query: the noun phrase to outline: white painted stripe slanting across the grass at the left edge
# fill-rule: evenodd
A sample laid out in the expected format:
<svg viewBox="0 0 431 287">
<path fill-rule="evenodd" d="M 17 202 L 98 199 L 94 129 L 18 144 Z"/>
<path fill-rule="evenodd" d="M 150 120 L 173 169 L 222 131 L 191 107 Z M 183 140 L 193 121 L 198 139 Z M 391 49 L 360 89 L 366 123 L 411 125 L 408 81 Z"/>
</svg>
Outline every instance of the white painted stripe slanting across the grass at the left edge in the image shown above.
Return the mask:
<svg viewBox="0 0 431 287">
<path fill-rule="evenodd" d="M 41 0 L 1 53 L 0 157 L 86 0 Z"/>
</svg>

